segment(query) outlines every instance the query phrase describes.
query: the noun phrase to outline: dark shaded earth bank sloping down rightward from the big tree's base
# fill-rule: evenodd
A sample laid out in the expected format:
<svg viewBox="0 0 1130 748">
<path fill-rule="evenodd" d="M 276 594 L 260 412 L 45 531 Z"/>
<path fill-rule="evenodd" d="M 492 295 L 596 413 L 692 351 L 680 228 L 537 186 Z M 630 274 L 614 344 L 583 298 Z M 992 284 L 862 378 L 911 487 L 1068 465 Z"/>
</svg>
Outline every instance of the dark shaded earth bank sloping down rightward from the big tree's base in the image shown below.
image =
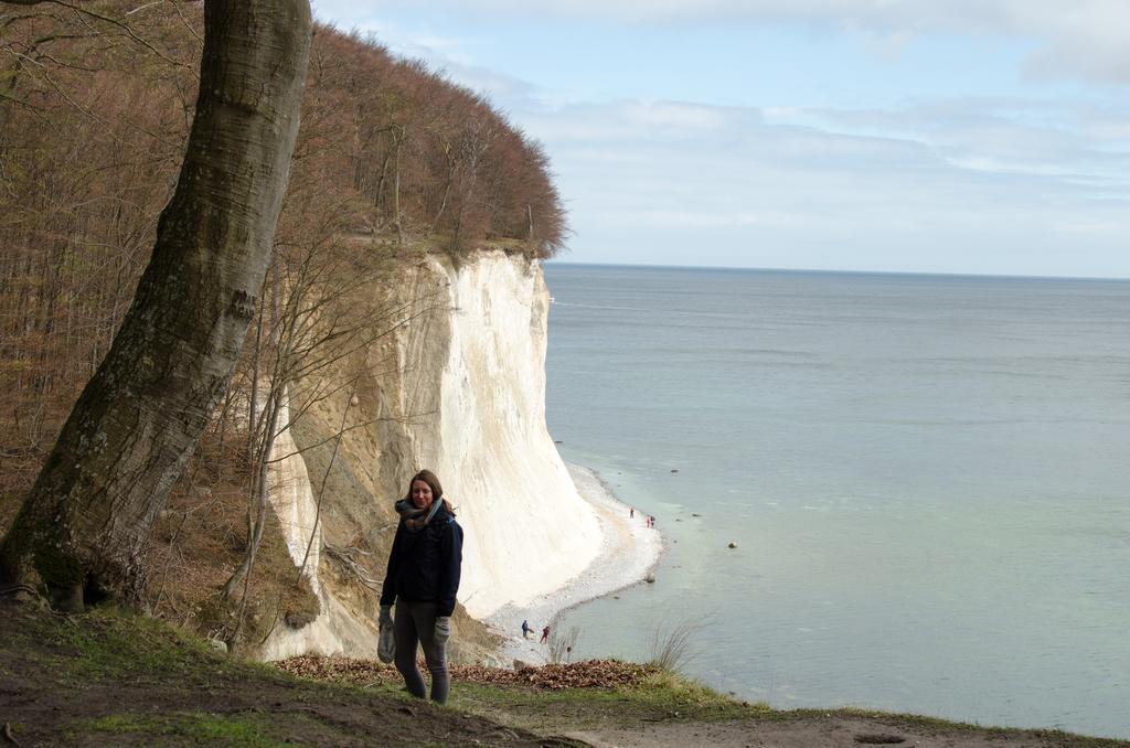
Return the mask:
<svg viewBox="0 0 1130 748">
<path fill-rule="evenodd" d="M 576 745 L 233 662 L 137 620 L 0 602 L 0 746 Z"/>
</svg>

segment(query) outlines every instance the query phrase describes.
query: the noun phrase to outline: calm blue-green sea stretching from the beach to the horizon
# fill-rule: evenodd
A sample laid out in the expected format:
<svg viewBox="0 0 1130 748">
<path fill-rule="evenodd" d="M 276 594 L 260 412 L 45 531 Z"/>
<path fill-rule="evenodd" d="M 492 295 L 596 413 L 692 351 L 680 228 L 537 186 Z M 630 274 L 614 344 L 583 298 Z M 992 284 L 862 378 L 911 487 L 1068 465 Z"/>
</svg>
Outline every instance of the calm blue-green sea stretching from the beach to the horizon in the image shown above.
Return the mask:
<svg viewBox="0 0 1130 748">
<path fill-rule="evenodd" d="M 574 658 L 687 626 L 749 701 L 1130 738 L 1130 281 L 546 278 L 549 430 L 669 543 Z"/>
</svg>

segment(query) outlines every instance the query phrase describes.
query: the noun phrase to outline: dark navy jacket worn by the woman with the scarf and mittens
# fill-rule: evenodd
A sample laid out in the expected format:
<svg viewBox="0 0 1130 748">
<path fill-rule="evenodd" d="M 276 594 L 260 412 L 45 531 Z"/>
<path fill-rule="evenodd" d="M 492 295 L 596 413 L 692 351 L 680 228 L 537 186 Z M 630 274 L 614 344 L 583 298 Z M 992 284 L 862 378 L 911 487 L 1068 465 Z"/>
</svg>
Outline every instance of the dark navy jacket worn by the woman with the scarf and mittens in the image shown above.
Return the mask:
<svg viewBox="0 0 1130 748">
<path fill-rule="evenodd" d="M 441 506 L 427 527 L 416 532 L 401 520 L 389 554 L 381 605 L 391 606 L 398 597 L 409 602 L 435 602 L 437 616 L 450 616 L 455 609 L 462 562 L 463 529 L 446 508 Z"/>
</svg>

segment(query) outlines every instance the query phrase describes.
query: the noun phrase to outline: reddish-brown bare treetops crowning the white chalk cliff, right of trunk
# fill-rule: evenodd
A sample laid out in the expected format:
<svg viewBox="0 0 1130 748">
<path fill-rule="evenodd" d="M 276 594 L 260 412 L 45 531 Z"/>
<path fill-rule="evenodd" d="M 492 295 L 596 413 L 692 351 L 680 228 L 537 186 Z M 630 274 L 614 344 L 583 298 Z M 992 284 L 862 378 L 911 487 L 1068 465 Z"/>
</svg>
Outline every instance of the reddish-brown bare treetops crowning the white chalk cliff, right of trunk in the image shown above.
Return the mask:
<svg viewBox="0 0 1130 748">
<path fill-rule="evenodd" d="M 562 245 L 545 151 L 480 96 L 325 27 L 307 85 L 302 153 L 364 198 L 356 228 L 436 235 L 457 251 L 508 240 L 536 258 Z"/>
</svg>

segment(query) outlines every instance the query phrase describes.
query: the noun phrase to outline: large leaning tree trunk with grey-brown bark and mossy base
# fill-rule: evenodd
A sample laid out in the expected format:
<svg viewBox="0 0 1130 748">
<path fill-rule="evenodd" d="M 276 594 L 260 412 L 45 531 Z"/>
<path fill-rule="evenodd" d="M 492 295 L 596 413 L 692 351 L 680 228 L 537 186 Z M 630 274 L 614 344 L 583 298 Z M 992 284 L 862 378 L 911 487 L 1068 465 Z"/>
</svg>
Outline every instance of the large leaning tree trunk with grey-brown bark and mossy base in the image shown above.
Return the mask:
<svg viewBox="0 0 1130 748">
<path fill-rule="evenodd" d="M 172 201 L 113 346 L 0 546 L 64 609 L 129 600 L 153 521 L 224 393 L 270 260 L 310 52 L 308 0 L 207 0 Z"/>
</svg>

